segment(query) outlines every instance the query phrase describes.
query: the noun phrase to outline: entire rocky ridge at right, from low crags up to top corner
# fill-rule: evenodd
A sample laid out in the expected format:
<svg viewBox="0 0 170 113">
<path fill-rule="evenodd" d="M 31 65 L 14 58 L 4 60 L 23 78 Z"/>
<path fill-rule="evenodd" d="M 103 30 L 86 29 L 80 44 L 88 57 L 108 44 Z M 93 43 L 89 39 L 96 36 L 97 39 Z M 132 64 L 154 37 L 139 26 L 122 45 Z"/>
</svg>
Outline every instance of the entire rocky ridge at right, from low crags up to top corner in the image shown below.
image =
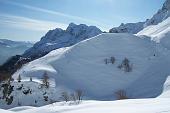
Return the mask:
<svg viewBox="0 0 170 113">
<path fill-rule="evenodd" d="M 163 7 L 151 19 L 145 22 L 121 24 L 109 30 L 110 33 L 132 33 L 136 34 L 147 26 L 157 25 L 170 16 L 170 1 L 166 0 Z"/>
</svg>

